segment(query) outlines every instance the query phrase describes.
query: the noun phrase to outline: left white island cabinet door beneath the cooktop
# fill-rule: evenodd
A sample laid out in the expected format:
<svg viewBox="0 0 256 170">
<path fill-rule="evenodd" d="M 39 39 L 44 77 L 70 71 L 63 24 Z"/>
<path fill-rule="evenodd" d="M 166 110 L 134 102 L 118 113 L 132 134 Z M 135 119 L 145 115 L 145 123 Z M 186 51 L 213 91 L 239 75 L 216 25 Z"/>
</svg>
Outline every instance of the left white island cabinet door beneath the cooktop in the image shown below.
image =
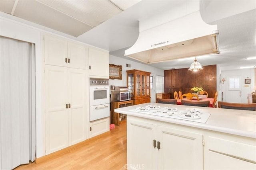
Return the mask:
<svg viewBox="0 0 256 170">
<path fill-rule="evenodd" d="M 156 169 L 157 148 L 154 148 L 156 125 L 127 121 L 127 164 L 130 169 Z"/>
</svg>

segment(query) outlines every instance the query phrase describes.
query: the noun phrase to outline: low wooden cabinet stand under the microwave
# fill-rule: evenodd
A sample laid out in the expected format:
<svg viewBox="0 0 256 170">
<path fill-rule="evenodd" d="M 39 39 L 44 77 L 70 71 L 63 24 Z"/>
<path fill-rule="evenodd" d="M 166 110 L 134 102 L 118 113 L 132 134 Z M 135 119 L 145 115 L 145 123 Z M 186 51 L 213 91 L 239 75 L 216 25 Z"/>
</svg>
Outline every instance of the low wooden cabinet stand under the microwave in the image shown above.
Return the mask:
<svg viewBox="0 0 256 170">
<path fill-rule="evenodd" d="M 115 125 L 121 125 L 126 123 L 126 115 L 121 113 L 116 113 L 114 110 L 121 107 L 132 106 L 132 100 L 123 102 L 111 102 L 111 121 Z"/>
</svg>

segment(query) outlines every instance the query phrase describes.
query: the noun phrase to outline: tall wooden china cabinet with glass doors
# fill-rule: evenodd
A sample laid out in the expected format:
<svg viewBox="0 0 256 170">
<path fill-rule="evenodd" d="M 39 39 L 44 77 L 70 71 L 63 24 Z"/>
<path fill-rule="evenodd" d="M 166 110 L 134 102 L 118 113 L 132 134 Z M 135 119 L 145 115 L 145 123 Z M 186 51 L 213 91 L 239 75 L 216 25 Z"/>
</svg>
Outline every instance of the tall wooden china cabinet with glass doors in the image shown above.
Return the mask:
<svg viewBox="0 0 256 170">
<path fill-rule="evenodd" d="M 133 105 L 150 102 L 150 73 L 141 70 L 127 70 L 127 86 Z"/>
</svg>

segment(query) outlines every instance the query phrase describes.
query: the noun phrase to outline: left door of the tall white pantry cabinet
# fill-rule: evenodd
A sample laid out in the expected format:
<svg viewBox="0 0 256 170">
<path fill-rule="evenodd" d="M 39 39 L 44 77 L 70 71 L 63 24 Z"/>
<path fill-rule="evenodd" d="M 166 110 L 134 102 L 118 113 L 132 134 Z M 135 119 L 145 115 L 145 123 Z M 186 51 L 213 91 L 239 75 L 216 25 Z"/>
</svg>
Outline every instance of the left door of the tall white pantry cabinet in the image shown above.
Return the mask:
<svg viewBox="0 0 256 170">
<path fill-rule="evenodd" d="M 68 147 L 68 71 L 45 66 L 46 154 Z"/>
</svg>

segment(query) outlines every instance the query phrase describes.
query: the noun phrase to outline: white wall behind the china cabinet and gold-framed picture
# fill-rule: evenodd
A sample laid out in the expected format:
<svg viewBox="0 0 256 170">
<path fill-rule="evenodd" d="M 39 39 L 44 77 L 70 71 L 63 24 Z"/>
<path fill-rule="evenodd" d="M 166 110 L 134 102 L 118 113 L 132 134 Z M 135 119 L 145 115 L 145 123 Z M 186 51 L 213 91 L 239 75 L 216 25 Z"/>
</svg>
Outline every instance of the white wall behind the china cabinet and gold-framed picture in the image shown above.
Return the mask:
<svg viewBox="0 0 256 170">
<path fill-rule="evenodd" d="M 109 80 L 109 84 L 114 86 L 127 86 L 126 70 L 136 69 L 151 72 L 150 76 L 153 76 L 153 89 L 151 89 L 150 91 L 151 102 L 156 102 L 155 76 L 164 76 L 164 70 L 149 66 L 147 64 L 141 64 L 134 61 L 122 59 L 113 55 L 109 55 L 109 64 L 122 65 L 122 80 Z M 131 67 L 126 67 L 126 64 L 131 64 Z"/>
</svg>

